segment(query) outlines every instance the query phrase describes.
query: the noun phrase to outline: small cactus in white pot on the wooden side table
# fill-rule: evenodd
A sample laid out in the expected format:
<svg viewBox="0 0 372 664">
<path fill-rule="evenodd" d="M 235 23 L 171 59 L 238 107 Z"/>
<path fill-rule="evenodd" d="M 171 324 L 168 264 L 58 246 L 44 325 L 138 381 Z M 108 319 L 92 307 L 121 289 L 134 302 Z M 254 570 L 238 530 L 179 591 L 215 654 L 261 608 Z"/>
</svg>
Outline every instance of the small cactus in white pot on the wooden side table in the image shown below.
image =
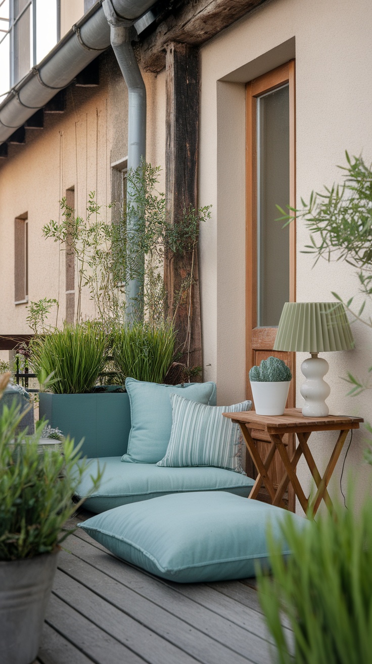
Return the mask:
<svg viewBox="0 0 372 664">
<path fill-rule="evenodd" d="M 271 355 L 251 368 L 249 380 L 257 415 L 282 415 L 292 380 L 289 367 Z"/>
</svg>

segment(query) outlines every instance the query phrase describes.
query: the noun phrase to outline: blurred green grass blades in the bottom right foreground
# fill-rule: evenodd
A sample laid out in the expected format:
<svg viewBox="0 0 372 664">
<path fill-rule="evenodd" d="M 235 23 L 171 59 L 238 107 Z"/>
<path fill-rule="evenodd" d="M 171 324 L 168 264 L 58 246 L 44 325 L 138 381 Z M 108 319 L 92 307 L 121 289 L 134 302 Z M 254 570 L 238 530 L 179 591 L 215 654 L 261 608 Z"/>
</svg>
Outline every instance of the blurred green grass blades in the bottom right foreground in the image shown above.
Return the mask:
<svg viewBox="0 0 372 664">
<path fill-rule="evenodd" d="M 349 492 L 350 493 L 350 492 Z M 280 664 L 369 664 L 372 653 L 372 501 L 357 517 L 335 506 L 298 530 L 282 533 L 292 555 L 284 561 L 269 535 L 273 577 L 259 576 L 259 599 Z M 282 627 L 294 633 L 294 657 Z"/>
</svg>

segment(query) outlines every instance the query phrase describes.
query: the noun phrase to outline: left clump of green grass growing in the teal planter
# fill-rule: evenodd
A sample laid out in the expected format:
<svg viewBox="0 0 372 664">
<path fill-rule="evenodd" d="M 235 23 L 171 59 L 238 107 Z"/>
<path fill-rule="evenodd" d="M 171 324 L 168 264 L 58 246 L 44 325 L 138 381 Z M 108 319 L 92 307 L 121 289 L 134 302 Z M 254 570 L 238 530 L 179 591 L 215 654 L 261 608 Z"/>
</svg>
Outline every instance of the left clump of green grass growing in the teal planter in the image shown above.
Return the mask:
<svg viewBox="0 0 372 664">
<path fill-rule="evenodd" d="M 30 344 L 31 365 L 40 382 L 53 375 L 54 394 L 91 392 L 107 364 L 107 335 L 95 321 L 64 323 Z"/>
</svg>

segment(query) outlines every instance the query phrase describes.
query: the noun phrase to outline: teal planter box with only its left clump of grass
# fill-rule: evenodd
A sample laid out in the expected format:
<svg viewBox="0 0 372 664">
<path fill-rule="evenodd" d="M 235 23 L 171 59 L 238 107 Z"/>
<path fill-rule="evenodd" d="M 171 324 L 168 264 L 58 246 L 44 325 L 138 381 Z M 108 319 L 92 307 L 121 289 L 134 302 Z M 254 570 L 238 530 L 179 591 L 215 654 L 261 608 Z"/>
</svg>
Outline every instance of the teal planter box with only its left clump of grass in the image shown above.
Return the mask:
<svg viewBox="0 0 372 664">
<path fill-rule="evenodd" d="M 88 457 L 121 456 L 131 428 L 129 397 L 123 386 L 99 386 L 109 361 L 111 336 L 98 321 L 64 324 L 30 344 L 30 363 L 40 376 L 52 375 L 40 392 L 39 416 L 64 436 L 84 438 Z"/>
</svg>

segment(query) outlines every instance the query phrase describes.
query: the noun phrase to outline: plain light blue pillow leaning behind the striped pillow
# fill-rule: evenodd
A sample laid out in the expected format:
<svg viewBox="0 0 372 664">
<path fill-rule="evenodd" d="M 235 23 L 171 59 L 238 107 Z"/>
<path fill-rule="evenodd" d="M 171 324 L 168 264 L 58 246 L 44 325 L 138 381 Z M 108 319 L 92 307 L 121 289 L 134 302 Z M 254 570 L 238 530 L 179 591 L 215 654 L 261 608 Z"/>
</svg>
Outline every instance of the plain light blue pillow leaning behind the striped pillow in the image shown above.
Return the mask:
<svg viewBox="0 0 372 664">
<path fill-rule="evenodd" d="M 172 392 L 201 404 L 216 404 L 214 382 L 160 385 L 127 378 L 125 388 L 131 403 L 132 428 L 123 461 L 134 463 L 156 463 L 166 453 L 172 429 Z"/>
</svg>

